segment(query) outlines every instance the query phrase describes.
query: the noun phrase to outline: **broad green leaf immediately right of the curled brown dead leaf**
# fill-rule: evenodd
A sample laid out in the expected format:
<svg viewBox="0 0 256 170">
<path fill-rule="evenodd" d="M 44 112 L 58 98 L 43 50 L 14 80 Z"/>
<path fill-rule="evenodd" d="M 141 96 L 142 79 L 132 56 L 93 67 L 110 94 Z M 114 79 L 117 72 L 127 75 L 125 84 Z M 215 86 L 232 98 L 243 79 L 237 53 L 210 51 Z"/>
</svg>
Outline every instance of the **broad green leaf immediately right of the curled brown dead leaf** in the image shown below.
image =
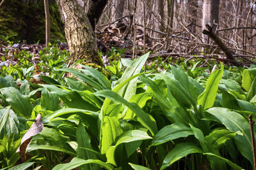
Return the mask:
<svg viewBox="0 0 256 170">
<path fill-rule="evenodd" d="M 44 127 L 40 134 L 33 136 L 27 150 L 56 150 L 76 156 L 76 151 L 67 143 L 68 139 L 55 129 Z"/>
</svg>

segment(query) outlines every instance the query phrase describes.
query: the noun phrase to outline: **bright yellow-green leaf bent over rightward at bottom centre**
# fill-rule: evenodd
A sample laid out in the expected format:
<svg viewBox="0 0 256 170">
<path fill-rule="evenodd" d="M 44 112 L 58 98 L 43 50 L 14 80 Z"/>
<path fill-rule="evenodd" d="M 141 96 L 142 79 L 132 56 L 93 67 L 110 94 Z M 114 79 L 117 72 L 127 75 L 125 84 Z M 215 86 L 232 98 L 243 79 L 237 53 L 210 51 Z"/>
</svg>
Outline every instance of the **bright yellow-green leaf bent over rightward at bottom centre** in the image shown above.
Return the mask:
<svg viewBox="0 0 256 170">
<path fill-rule="evenodd" d="M 152 139 L 152 138 L 150 136 L 148 136 L 148 134 L 144 131 L 133 130 L 133 131 L 124 132 L 123 134 L 118 136 L 118 138 L 116 139 L 115 145 L 109 147 L 108 152 L 106 153 L 108 163 L 116 165 L 115 150 L 118 145 L 120 145 L 122 143 L 131 143 L 133 141 L 141 141 L 141 140 L 145 140 L 145 139 Z M 136 148 L 135 148 L 135 150 L 136 150 Z"/>
</svg>

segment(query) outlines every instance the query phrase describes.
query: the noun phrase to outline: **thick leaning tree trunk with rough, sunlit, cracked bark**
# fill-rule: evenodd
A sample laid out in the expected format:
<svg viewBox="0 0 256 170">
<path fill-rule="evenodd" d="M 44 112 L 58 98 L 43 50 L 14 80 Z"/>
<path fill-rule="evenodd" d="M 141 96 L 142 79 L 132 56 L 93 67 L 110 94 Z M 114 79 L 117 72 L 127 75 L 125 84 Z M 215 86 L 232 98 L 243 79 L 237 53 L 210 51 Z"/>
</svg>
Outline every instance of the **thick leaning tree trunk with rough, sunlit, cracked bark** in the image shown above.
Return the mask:
<svg viewBox="0 0 256 170">
<path fill-rule="evenodd" d="M 76 0 L 61 0 L 65 16 L 65 34 L 70 50 L 70 62 L 85 59 L 86 64 L 103 66 L 97 54 L 97 42 L 86 13 Z"/>
</svg>

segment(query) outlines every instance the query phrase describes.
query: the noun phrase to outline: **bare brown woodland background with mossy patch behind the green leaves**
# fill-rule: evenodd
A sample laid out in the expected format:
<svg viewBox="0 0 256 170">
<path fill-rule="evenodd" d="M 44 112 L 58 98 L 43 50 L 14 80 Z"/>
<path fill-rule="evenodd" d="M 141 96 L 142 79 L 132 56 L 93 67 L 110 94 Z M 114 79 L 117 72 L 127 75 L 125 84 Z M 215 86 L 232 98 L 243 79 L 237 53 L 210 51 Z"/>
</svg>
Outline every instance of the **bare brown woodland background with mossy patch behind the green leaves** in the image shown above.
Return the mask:
<svg viewBox="0 0 256 170">
<path fill-rule="evenodd" d="M 83 6 L 84 11 L 93 3 L 88 0 L 77 2 Z M 214 11 L 203 11 L 204 3 L 215 5 L 212 8 Z M 49 4 L 51 39 L 53 42 L 65 42 L 64 17 L 63 13 L 60 15 L 58 12 L 61 11 L 60 1 L 50 0 Z M 216 34 L 232 50 L 234 57 L 246 62 L 255 57 L 256 13 L 255 1 L 252 0 L 111 0 L 95 27 L 99 50 L 110 51 L 111 46 L 127 48 L 125 57 L 132 57 L 141 53 L 145 32 L 145 50 L 157 52 L 152 54 L 153 57 L 190 58 L 196 55 L 205 59 L 217 57 L 226 60 L 216 44 L 209 41 L 207 36 L 203 38 L 203 12 L 205 15 L 213 15 Z M 13 39 L 25 39 L 28 43 L 45 41 L 43 1 L 6 1 L 1 5 L 0 22 L 0 34 L 3 36 L 15 34 Z M 205 52 L 203 47 L 209 51 Z M 135 51 L 132 52 L 133 48 Z M 254 62 L 250 60 L 249 63 Z"/>
</svg>

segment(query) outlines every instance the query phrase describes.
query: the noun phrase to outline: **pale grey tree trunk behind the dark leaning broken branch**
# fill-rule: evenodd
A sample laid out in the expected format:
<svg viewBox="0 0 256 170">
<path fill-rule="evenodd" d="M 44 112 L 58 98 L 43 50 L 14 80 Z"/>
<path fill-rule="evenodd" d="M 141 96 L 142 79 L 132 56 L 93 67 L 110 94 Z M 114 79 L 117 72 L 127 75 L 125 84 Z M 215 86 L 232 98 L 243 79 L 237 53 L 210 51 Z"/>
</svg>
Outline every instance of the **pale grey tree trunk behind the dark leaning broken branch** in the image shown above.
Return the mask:
<svg viewBox="0 0 256 170">
<path fill-rule="evenodd" d="M 219 4 L 220 0 L 204 0 L 202 30 L 207 29 L 205 25 L 209 24 L 212 27 L 212 32 L 216 31 L 219 24 Z M 208 37 L 204 34 L 202 40 L 204 43 L 208 43 Z"/>
</svg>

